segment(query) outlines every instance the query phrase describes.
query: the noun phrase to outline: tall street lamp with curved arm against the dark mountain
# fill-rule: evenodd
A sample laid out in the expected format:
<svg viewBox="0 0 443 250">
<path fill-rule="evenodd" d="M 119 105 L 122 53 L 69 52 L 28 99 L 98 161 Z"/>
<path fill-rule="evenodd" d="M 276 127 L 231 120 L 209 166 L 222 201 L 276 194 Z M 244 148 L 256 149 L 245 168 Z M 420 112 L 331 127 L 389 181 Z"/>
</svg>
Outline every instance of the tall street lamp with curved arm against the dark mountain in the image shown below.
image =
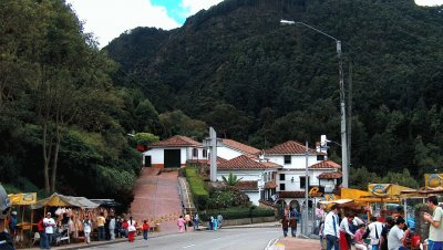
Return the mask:
<svg viewBox="0 0 443 250">
<path fill-rule="evenodd" d="M 280 20 L 280 23 L 284 25 L 296 25 L 296 24 L 300 24 L 300 25 L 305 25 L 313 31 L 317 31 L 320 34 L 323 34 L 330 39 L 332 39 L 333 41 L 336 41 L 337 43 L 337 58 L 339 60 L 339 85 L 340 85 L 340 117 L 341 117 L 341 162 L 342 162 L 342 174 L 343 174 L 343 181 L 342 181 L 342 186 L 344 188 L 348 187 L 348 183 L 349 183 L 349 159 L 348 159 L 348 139 L 347 139 L 347 122 L 346 122 L 346 107 L 344 107 L 344 81 L 343 81 L 343 59 L 341 56 L 341 41 L 336 39 L 334 37 L 319 30 L 316 29 L 311 25 L 308 25 L 303 22 L 295 22 L 295 21 L 289 21 L 289 20 Z"/>
</svg>

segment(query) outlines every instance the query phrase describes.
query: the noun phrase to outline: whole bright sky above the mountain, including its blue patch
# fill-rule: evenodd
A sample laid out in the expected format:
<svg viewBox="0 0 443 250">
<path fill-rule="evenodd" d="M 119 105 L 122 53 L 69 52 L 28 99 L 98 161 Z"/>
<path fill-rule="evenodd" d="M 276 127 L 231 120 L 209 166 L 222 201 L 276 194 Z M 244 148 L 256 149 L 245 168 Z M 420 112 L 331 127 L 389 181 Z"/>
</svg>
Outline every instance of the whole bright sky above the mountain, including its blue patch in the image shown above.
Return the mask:
<svg viewBox="0 0 443 250">
<path fill-rule="evenodd" d="M 186 18 L 207 10 L 223 0 L 66 0 L 84 31 L 93 33 L 100 48 L 107 45 L 126 30 L 155 27 L 172 30 Z M 443 0 L 415 0 L 419 6 L 442 6 Z"/>
</svg>

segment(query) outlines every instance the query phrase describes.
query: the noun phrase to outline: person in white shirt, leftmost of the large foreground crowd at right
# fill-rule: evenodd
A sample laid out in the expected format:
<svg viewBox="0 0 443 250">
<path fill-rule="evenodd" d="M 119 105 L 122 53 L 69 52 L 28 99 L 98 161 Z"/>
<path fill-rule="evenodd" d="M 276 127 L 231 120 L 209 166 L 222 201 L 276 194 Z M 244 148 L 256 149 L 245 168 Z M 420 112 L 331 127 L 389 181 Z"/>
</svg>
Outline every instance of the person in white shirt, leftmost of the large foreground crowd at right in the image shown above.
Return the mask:
<svg viewBox="0 0 443 250">
<path fill-rule="evenodd" d="M 327 250 L 340 250 L 339 239 L 339 218 L 337 212 L 339 211 L 339 206 L 337 204 L 332 205 L 331 210 L 324 218 L 323 236 L 327 241 Z"/>
</svg>

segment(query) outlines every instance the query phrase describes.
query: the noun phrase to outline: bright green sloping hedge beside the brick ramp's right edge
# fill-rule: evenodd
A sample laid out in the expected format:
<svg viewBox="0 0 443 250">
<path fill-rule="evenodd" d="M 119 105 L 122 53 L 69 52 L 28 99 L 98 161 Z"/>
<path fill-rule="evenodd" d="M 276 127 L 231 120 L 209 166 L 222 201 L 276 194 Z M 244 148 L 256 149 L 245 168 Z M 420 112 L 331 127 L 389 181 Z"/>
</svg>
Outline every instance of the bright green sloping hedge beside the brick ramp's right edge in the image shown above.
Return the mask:
<svg viewBox="0 0 443 250">
<path fill-rule="evenodd" d="M 195 167 L 186 167 L 185 174 L 195 206 L 198 210 L 205 210 L 209 200 L 209 192 L 205 189 L 205 181 L 197 175 Z"/>
</svg>

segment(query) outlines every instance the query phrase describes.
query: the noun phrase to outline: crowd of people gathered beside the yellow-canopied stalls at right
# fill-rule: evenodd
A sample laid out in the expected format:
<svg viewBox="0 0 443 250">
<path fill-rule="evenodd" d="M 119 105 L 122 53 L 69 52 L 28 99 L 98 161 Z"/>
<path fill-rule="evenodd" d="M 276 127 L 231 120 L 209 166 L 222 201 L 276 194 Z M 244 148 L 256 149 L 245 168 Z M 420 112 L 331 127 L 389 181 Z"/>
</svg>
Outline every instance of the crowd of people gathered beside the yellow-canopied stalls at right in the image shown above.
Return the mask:
<svg viewBox="0 0 443 250">
<path fill-rule="evenodd" d="M 426 204 L 432 211 L 432 215 L 423 215 L 423 220 L 430 225 L 425 240 L 427 250 L 443 250 L 443 210 L 435 196 L 427 197 Z M 282 226 L 285 237 L 286 223 Z M 330 207 L 319 226 L 320 242 L 326 250 L 408 250 L 405 242 L 412 233 L 400 215 L 370 217 L 364 221 L 350 210 L 341 210 L 338 205 Z"/>
</svg>

